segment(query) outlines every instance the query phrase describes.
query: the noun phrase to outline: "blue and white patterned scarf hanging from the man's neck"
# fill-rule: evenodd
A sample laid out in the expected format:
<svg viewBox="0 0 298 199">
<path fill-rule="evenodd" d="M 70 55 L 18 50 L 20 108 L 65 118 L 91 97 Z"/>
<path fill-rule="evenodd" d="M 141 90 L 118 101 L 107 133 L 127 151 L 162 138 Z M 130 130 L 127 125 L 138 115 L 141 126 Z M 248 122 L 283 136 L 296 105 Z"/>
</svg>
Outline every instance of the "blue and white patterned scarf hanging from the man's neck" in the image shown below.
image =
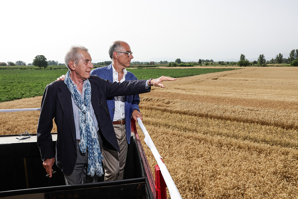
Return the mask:
<svg viewBox="0 0 298 199">
<path fill-rule="evenodd" d="M 91 85 L 89 80 L 86 79 L 86 90 L 83 93 L 84 99 L 82 99 L 79 91 L 73 86 L 69 74 L 70 72 L 68 71 L 65 75 L 64 83 L 69 88 L 75 105 L 80 109 L 80 151 L 86 153 L 88 150 L 87 175 L 94 176 L 94 173 L 96 173 L 96 175 L 101 176 L 103 175 L 103 167 L 101 165 L 103 156 L 100 152 L 96 128 L 88 109 L 91 104 Z"/>
</svg>

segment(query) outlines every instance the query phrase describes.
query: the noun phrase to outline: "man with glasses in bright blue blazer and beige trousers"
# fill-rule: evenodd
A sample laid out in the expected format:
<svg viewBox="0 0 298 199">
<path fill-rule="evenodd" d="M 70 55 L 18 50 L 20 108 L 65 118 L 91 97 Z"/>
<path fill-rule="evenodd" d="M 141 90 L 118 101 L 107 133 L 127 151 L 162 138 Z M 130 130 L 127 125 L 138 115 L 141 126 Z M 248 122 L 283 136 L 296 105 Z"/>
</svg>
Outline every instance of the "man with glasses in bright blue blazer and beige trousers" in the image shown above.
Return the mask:
<svg viewBox="0 0 298 199">
<path fill-rule="evenodd" d="M 91 75 L 108 79 L 111 82 L 123 82 L 136 80 L 136 76 L 126 71 L 130 66 L 133 55 L 128 43 L 124 41 L 114 41 L 109 48 L 109 55 L 112 63 L 109 66 L 96 68 L 91 71 Z M 103 148 L 103 165 L 105 169 L 104 181 L 122 180 L 126 161 L 128 144 L 131 138 L 131 116 L 143 119 L 139 110 L 139 95 L 117 96 L 108 100 L 108 108 L 113 121 L 120 153 L 107 148 Z"/>
</svg>

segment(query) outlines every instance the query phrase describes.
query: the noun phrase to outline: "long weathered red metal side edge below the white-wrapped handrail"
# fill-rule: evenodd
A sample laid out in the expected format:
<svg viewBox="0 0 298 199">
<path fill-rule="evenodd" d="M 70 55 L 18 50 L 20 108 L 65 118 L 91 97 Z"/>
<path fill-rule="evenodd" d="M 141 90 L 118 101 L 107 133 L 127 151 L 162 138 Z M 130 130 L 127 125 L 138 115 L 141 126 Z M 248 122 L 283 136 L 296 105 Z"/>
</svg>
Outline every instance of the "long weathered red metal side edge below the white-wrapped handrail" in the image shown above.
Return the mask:
<svg viewBox="0 0 298 199">
<path fill-rule="evenodd" d="M 134 119 L 131 119 L 131 132 L 134 133 L 134 135 L 136 136 L 136 143 L 138 144 L 139 147 L 139 151 L 140 151 L 140 155 L 144 164 L 144 168 L 145 168 L 145 172 L 149 181 L 149 185 L 150 185 L 150 189 L 152 191 L 152 196 L 154 199 L 156 199 L 156 188 L 155 188 L 155 182 L 154 182 L 154 178 L 143 148 L 143 145 L 141 143 L 141 140 L 139 138 L 139 134 L 138 131 L 136 130 L 136 121 Z"/>
</svg>

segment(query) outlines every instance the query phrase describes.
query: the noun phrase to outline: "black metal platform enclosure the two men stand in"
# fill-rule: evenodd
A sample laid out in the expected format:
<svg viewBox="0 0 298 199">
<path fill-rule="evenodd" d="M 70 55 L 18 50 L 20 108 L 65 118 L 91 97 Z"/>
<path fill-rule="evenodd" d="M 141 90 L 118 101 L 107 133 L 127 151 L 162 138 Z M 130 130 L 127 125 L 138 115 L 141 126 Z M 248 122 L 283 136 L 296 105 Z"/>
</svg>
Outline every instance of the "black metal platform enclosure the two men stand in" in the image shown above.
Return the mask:
<svg viewBox="0 0 298 199">
<path fill-rule="evenodd" d="M 36 135 L 33 134 L 36 137 Z M 55 134 L 53 134 L 53 137 Z M 4 198 L 142 198 L 152 199 L 136 138 L 131 136 L 131 144 L 121 181 L 82 185 L 65 185 L 64 175 L 54 164 L 56 171 L 52 178 L 46 177 L 40 151 L 36 141 L 3 142 L 8 136 L 0 136 L 0 197 Z M 15 136 L 16 137 L 16 136 Z M 10 136 L 10 138 L 15 139 Z M 54 139 L 53 139 L 54 140 Z M 56 141 L 53 141 L 55 149 Z"/>
</svg>

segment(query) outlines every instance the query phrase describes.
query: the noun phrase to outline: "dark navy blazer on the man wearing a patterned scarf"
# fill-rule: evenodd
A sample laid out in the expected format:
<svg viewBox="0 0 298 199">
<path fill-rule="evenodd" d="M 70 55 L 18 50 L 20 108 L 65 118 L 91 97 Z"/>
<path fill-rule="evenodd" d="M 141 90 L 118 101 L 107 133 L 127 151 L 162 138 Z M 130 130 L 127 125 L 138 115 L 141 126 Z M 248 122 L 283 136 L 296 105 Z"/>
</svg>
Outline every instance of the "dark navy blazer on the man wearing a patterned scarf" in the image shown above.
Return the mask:
<svg viewBox="0 0 298 199">
<path fill-rule="evenodd" d="M 107 98 L 150 92 L 145 89 L 147 80 L 111 83 L 96 75 L 90 75 L 91 104 L 96 115 L 103 145 L 119 152 L 119 145 L 108 112 Z M 57 125 L 56 164 L 66 175 L 70 175 L 77 159 L 75 121 L 71 94 L 64 81 L 54 81 L 46 86 L 41 101 L 41 112 L 37 125 L 37 144 L 42 160 L 54 158 L 52 135 L 53 118 Z"/>
</svg>

